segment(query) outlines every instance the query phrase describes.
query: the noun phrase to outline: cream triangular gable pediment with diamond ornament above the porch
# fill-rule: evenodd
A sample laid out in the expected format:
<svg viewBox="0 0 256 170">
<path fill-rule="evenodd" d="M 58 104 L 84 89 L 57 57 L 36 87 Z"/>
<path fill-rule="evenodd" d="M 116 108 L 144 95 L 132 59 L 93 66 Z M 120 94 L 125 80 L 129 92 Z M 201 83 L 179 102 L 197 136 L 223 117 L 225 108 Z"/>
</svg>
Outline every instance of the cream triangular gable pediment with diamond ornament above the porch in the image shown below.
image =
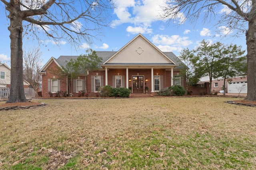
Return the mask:
<svg viewBox="0 0 256 170">
<path fill-rule="evenodd" d="M 137 35 L 103 64 L 114 63 L 176 64 L 141 34 Z"/>
</svg>

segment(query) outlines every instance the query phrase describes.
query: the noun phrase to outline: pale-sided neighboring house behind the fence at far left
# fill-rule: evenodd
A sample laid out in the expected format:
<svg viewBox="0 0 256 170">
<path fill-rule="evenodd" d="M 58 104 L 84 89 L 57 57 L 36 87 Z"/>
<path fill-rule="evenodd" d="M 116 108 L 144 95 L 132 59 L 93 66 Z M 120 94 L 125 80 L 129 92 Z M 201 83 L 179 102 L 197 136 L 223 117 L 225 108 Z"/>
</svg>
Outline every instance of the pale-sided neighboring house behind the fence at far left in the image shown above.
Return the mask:
<svg viewBox="0 0 256 170">
<path fill-rule="evenodd" d="M 28 88 L 29 83 L 24 80 L 24 88 Z M 0 63 L 0 87 L 10 88 L 11 68 L 4 63 Z"/>
</svg>

